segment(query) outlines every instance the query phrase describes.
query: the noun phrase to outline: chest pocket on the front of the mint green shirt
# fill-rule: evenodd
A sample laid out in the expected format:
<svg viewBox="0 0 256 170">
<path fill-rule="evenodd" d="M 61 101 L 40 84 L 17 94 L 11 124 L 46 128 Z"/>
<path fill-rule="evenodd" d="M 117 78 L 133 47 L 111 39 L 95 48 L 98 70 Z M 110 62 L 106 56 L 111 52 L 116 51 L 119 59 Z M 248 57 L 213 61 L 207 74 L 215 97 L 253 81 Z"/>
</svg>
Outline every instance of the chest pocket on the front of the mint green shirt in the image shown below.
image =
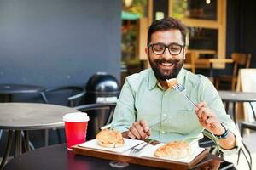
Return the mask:
<svg viewBox="0 0 256 170">
<path fill-rule="evenodd" d="M 177 110 L 176 119 L 177 133 L 192 133 L 200 125 L 194 110 Z"/>
</svg>

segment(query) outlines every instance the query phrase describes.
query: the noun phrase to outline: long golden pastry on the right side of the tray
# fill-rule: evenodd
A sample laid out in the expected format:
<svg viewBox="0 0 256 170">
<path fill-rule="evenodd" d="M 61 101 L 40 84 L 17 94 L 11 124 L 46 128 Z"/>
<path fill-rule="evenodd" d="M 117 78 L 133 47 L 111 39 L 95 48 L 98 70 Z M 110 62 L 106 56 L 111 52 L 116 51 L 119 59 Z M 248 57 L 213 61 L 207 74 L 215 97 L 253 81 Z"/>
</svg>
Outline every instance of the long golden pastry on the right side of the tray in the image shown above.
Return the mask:
<svg viewBox="0 0 256 170">
<path fill-rule="evenodd" d="M 184 141 L 169 142 L 154 151 L 154 156 L 168 159 L 182 159 L 191 155 L 191 146 Z"/>
</svg>

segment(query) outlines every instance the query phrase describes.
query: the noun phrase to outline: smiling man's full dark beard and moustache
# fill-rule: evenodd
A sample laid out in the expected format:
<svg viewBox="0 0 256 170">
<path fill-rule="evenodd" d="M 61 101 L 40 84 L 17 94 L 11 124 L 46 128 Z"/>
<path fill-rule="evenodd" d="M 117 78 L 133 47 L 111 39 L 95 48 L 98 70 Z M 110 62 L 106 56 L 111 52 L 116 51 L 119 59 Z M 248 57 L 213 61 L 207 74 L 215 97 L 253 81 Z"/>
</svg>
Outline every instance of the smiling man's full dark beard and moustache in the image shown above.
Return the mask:
<svg viewBox="0 0 256 170">
<path fill-rule="evenodd" d="M 161 81 L 166 81 L 166 79 L 176 78 L 179 71 L 183 67 L 184 59 L 150 59 L 148 56 L 149 64 L 154 71 L 154 76 Z M 172 64 L 172 69 L 163 70 L 160 68 L 162 63 Z"/>
</svg>

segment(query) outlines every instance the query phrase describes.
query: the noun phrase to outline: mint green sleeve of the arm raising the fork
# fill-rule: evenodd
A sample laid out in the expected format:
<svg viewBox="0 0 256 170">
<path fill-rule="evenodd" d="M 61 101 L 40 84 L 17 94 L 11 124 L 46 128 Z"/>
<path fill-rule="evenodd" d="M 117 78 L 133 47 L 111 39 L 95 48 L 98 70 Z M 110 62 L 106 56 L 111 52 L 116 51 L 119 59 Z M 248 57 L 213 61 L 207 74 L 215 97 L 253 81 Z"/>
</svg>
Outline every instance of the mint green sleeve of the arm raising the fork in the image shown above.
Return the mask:
<svg viewBox="0 0 256 170">
<path fill-rule="evenodd" d="M 201 87 L 201 100 L 207 102 L 207 105 L 217 114 L 219 122 L 224 122 L 224 124 L 229 128 L 230 132 L 233 133 L 236 138 L 236 147 L 234 149 L 224 150 L 220 147 L 220 145 L 218 145 L 218 149 L 224 152 L 224 154 L 232 154 L 241 148 L 241 135 L 236 127 L 236 124 L 230 118 L 230 115 L 226 113 L 223 102 L 218 95 L 218 91 L 212 85 L 212 82 L 207 79 L 203 82 L 203 84 L 203 87 Z M 216 139 L 216 141 L 218 141 L 213 134 L 212 136 Z"/>
</svg>

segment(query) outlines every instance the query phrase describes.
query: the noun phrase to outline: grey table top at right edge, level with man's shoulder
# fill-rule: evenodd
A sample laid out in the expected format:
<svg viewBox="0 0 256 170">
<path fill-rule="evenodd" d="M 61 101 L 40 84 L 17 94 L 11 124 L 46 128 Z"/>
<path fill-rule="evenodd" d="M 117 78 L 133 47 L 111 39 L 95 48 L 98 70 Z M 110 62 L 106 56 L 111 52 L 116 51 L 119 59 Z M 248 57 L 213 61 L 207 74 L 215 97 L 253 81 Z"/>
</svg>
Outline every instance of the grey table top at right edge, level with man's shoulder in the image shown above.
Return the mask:
<svg viewBox="0 0 256 170">
<path fill-rule="evenodd" d="M 223 101 L 256 102 L 256 93 L 219 90 L 218 94 Z"/>
</svg>

